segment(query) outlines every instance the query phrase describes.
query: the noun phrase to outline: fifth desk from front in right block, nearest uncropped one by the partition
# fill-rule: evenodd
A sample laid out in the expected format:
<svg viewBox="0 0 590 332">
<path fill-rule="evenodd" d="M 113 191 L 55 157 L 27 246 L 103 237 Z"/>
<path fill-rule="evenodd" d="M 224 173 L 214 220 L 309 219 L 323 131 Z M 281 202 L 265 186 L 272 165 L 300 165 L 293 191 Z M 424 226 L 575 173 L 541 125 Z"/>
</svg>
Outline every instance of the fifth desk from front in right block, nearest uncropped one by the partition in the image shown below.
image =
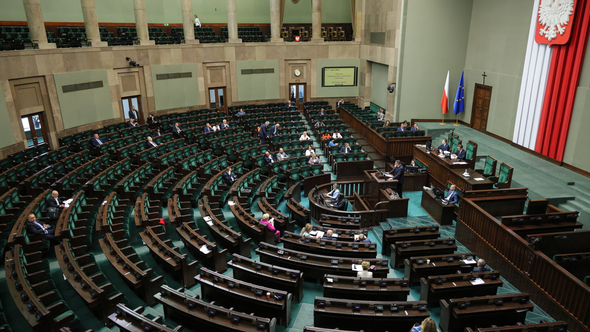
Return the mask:
<svg viewBox="0 0 590 332">
<path fill-rule="evenodd" d="M 527 311 L 534 305 L 528 293 L 493 295 L 487 297 L 453 298 L 440 300 L 441 331 L 462 332 L 470 327 L 513 325 L 525 321 Z"/>
</svg>

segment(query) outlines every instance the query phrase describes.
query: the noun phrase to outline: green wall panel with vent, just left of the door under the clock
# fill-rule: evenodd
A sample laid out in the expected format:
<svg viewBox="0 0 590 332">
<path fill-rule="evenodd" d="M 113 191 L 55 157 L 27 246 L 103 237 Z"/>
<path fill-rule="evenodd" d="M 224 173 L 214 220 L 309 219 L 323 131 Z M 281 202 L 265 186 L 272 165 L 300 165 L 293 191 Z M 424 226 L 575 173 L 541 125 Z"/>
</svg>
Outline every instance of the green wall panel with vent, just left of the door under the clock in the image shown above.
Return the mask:
<svg viewBox="0 0 590 332">
<path fill-rule="evenodd" d="M 235 61 L 238 101 L 278 99 L 278 60 Z M 273 68 L 274 73 L 242 75 L 242 69 Z"/>
</svg>

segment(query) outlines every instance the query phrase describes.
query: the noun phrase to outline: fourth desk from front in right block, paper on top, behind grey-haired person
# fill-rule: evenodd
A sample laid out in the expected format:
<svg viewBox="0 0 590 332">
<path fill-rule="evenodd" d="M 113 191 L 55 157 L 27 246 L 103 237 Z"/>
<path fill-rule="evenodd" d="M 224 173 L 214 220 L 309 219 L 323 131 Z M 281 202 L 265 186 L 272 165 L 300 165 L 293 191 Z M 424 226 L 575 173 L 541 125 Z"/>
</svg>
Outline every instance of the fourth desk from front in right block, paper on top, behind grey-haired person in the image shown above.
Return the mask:
<svg viewBox="0 0 590 332">
<path fill-rule="evenodd" d="M 480 278 L 484 283 L 471 284 L 471 281 L 466 280 L 470 277 Z M 437 284 L 437 280 L 442 283 Z M 503 284 L 498 271 L 427 276 L 420 278 L 420 300 L 436 305 L 438 301 L 450 298 L 496 295 L 498 287 Z"/>
</svg>

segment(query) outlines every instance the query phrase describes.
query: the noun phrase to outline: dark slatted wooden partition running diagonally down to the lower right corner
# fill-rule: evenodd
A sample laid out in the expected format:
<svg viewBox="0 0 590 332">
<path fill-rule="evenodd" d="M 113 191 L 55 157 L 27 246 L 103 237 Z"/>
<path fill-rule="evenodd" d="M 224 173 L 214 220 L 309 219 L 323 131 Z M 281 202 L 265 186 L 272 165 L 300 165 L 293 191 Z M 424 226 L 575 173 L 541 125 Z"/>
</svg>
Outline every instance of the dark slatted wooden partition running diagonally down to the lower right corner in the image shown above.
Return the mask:
<svg viewBox="0 0 590 332">
<path fill-rule="evenodd" d="M 455 238 L 571 332 L 590 331 L 590 288 L 522 237 L 497 222 L 475 202 L 461 198 Z"/>
</svg>

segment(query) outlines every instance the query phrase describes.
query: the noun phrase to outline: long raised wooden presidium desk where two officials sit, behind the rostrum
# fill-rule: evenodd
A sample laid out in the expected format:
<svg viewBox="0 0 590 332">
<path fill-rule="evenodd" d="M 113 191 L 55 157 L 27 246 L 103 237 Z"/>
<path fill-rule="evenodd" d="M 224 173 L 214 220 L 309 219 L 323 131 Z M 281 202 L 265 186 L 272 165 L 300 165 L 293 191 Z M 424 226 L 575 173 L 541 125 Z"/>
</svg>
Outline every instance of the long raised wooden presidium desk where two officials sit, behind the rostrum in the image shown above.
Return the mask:
<svg viewBox="0 0 590 332">
<path fill-rule="evenodd" d="M 436 152 L 428 153 L 425 147 L 414 145 L 414 158 L 428 166 L 427 187 L 434 184 L 435 187 L 446 189 L 448 183 L 457 185 L 459 190 L 489 190 L 494 188 L 493 181 L 469 168 L 469 164 L 463 160 L 438 157 Z M 463 162 L 465 162 L 463 164 Z M 467 169 L 470 177 L 464 177 Z M 476 179 L 481 180 L 476 180 Z"/>
</svg>

